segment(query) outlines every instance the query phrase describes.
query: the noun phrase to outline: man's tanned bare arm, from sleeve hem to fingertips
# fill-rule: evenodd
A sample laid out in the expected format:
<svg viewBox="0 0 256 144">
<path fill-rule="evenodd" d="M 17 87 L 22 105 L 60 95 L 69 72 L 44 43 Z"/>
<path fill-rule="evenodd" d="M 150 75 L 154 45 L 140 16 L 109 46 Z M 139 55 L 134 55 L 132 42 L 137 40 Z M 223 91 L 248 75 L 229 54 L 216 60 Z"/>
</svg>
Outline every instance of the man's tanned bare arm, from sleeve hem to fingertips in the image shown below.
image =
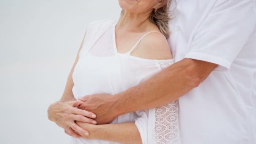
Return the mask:
<svg viewBox="0 0 256 144">
<path fill-rule="evenodd" d="M 81 98 L 85 103 L 80 108 L 96 113 L 98 124 L 109 123 L 119 115 L 175 101 L 196 88 L 217 66 L 206 61 L 183 59 L 122 93 L 85 96 Z"/>
</svg>

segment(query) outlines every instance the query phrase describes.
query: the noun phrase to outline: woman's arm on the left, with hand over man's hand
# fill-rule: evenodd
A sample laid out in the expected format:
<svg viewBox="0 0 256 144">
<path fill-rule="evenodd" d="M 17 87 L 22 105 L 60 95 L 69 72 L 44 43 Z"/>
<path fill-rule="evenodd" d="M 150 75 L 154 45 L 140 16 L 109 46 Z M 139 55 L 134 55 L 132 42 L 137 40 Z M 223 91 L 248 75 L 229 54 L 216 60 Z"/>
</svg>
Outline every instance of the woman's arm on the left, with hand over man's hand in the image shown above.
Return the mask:
<svg viewBox="0 0 256 144">
<path fill-rule="evenodd" d="M 83 37 L 83 41 L 84 41 L 84 38 L 85 38 L 85 35 Z M 76 101 L 72 93 L 72 88 L 74 86 L 72 74 L 77 64 L 77 61 L 79 59 L 79 53 L 83 48 L 83 41 L 80 45 L 73 67 L 69 73 L 67 83 L 64 89 L 64 93 L 61 99 L 51 104 L 48 108 L 48 119 L 55 122 L 61 128 L 64 128 L 65 133 L 74 137 L 80 137 L 80 135 L 75 133 L 74 130 L 81 133 L 82 136 L 85 133 L 88 133 L 87 131 L 83 130 L 78 125 L 76 125 L 75 120 L 85 122 L 85 123 L 96 124 L 96 121 L 91 119 L 91 118 L 95 118 L 96 115 L 94 115 L 92 112 L 75 108 L 83 104 L 83 102 Z"/>
</svg>

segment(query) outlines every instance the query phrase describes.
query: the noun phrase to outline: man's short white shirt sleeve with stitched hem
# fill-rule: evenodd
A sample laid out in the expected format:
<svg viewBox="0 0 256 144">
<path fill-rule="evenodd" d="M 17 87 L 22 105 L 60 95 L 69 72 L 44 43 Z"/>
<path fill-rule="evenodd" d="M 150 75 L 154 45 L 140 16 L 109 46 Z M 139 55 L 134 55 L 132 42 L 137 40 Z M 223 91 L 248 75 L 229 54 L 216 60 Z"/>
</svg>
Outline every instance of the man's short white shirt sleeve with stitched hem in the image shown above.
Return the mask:
<svg viewBox="0 0 256 144">
<path fill-rule="evenodd" d="M 255 0 L 216 0 L 192 34 L 186 58 L 218 64 L 228 70 L 246 44 L 256 23 Z"/>
</svg>

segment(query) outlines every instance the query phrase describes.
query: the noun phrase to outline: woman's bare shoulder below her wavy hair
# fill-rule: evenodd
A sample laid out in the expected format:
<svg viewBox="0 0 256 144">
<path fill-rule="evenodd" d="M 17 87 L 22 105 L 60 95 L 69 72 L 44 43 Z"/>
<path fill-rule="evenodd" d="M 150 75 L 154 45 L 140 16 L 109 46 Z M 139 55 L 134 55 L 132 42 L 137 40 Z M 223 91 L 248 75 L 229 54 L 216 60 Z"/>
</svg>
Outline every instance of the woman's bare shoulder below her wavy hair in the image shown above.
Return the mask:
<svg viewBox="0 0 256 144">
<path fill-rule="evenodd" d="M 169 44 L 159 32 L 146 35 L 131 55 L 144 59 L 172 59 Z"/>
</svg>

